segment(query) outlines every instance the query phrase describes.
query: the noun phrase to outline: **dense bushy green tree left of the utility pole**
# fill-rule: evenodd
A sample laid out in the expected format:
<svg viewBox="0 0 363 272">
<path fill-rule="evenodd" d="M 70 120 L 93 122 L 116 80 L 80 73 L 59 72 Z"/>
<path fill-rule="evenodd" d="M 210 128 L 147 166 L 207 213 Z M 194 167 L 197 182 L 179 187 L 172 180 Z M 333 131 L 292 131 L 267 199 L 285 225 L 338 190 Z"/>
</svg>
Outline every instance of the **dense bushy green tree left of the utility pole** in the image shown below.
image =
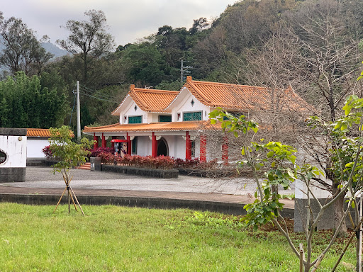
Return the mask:
<svg viewBox="0 0 363 272">
<path fill-rule="evenodd" d="M 0 126 L 10 128 L 50 128 L 62 125 L 67 114 L 64 90 L 40 84 L 40 77 L 16 73 L 0 81 Z"/>
</svg>

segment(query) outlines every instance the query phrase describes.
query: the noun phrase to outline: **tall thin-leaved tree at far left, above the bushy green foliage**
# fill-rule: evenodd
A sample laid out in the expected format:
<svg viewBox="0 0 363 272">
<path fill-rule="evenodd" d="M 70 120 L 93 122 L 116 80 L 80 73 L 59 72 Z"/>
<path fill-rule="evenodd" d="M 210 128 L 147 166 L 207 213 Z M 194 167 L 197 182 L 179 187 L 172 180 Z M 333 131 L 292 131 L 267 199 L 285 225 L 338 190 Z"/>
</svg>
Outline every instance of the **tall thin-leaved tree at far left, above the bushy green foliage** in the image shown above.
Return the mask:
<svg viewBox="0 0 363 272">
<path fill-rule="evenodd" d="M 40 74 L 45 62 L 53 57 L 40 45 L 41 41 L 21 18 L 5 19 L 0 12 L 0 42 L 4 45 L 0 65 L 9 68 L 13 74 L 19 71 Z"/>
</svg>

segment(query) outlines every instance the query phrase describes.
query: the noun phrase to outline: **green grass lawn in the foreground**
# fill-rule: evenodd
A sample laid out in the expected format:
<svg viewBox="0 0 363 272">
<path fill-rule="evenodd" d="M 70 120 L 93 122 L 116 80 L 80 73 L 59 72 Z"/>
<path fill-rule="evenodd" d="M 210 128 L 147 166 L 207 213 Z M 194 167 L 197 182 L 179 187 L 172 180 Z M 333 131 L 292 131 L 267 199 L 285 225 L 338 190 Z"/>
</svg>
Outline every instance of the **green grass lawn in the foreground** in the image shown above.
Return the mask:
<svg viewBox="0 0 363 272">
<path fill-rule="evenodd" d="M 253 232 L 237 217 L 86 205 L 84 217 L 54 208 L 0 203 L 0 271 L 298 271 L 279 232 Z M 330 233 L 318 235 L 323 246 Z M 330 271 L 343 246 L 318 271 Z M 352 247 L 343 261 L 354 263 Z"/>
</svg>

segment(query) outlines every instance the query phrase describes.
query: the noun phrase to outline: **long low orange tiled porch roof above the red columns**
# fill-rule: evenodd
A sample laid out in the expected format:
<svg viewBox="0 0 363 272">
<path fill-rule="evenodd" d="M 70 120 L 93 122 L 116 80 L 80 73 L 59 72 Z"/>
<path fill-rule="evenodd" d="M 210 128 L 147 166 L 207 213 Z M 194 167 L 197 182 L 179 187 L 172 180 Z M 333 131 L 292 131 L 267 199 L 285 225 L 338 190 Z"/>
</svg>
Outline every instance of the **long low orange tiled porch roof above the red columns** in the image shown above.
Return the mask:
<svg viewBox="0 0 363 272">
<path fill-rule="evenodd" d="M 209 121 L 161 122 L 150 124 L 104 125 L 102 127 L 84 127 L 83 132 L 155 132 L 155 131 L 193 131 L 220 129 L 220 124 L 211 125 Z"/>
</svg>

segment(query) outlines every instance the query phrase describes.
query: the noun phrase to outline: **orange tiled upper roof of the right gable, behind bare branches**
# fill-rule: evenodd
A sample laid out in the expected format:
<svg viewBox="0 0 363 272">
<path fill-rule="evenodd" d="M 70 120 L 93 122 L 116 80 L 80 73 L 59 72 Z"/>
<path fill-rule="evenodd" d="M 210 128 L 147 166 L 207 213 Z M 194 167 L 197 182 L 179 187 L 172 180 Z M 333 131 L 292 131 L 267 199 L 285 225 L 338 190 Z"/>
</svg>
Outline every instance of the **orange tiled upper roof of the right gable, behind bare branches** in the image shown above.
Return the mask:
<svg viewBox="0 0 363 272">
<path fill-rule="evenodd" d="M 213 108 L 228 110 L 248 111 L 272 108 L 279 101 L 281 109 L 295 111 L 313 110 L 306 101 L 296 94 L 291 88 L 282 91 L 276 90 L 272 96 L 272 89 L 259 86 L 226 84 L 207 81 L 194 81 L 187 77 L 184 87 L 201 103 Z M 278 93 L 278 94 L 277 94 Z"/>
</svg>

